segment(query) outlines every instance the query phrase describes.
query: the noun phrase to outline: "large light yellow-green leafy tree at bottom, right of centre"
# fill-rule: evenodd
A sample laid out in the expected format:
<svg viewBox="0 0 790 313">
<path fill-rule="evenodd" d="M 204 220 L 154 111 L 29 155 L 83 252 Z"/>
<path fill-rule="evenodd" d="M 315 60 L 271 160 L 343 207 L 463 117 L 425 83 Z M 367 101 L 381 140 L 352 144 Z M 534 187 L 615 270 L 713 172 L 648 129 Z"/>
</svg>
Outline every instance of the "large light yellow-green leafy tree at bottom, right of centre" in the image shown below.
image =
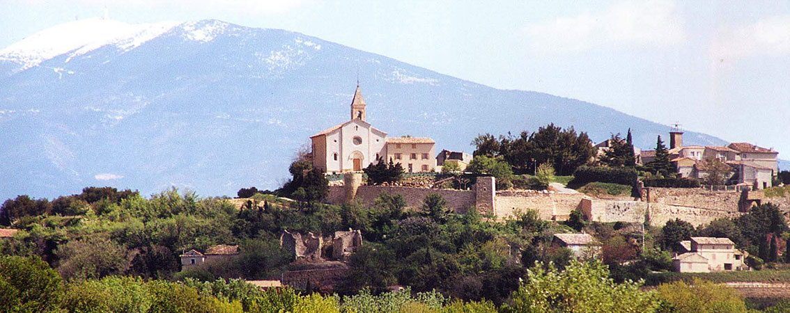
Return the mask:
<svg viewBox="0 0 790 313">
<path fill-rule="evenodd" d="M 639 283 L 615 284 L 600 261 L 570 261 L 564 271 L 535 266 L 513 293 L 513 305 L 503 312 L 650 312 L 658 307 L 652 291 Z"/>
</svg>

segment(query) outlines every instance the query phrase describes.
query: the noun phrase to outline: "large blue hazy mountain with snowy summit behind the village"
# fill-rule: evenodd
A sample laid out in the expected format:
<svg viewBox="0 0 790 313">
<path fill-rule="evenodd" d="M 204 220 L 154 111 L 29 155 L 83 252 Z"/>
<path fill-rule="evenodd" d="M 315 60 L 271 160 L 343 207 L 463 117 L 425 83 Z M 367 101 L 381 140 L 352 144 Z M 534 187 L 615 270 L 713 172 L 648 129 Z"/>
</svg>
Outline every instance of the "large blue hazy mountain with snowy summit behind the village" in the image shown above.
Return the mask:
<svg viewBox="0 0 790 313">
<path fill-rule="evenodd" d="M 359 73 L 359 74 L 358 74 Z M 357 78 L 359 77 L 359 78 Z M 589 102 L 499 90 L 296 32 L 220 20 L 80 20 L 0 50 L 0 199 L 86 186 L 175 186 L 201 196 L 276 188 L 308 136 L 349 118 L 471 152 L 477 134 L 555 123 L 595 141 L 669 127 Z M 687 132 L 689 144 L 723 144 Z"/>
</svg>

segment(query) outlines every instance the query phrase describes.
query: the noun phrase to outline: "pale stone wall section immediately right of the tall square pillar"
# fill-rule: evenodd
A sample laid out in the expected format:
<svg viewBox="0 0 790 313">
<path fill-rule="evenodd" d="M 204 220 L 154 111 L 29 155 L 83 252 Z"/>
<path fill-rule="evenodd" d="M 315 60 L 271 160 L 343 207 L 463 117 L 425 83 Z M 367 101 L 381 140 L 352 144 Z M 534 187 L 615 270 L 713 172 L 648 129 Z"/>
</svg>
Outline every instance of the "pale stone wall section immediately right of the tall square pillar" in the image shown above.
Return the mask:
<svg viewBox="0 0 790 313">
<path fill-rule="evenodd" d="M 506 218 L 513 216 L 514 211 L 534 210 L 545 220 L 565 221 L 570 211 L 579 207 L 581 199 L 587 198 L 581 193 L 496 192 L 496 216 Z"/>
</svg>

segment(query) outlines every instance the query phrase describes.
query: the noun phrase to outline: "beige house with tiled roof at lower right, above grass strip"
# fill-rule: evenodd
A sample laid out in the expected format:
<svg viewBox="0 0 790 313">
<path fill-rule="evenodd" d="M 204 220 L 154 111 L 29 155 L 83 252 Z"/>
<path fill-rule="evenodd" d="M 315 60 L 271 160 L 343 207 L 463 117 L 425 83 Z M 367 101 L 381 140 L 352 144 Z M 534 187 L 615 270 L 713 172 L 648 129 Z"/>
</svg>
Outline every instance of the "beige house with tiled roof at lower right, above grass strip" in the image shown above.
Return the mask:
<svg viewBox="0 0 790 313">
<path fill-rule="evenodd" d="M 748 270 L 746 253 L 735 249 L 729 238 L 691 237 L 681 242 L 683 249 L 672 259 L 676 271 L 707 273 L 722 270 Z"/>
</svg>

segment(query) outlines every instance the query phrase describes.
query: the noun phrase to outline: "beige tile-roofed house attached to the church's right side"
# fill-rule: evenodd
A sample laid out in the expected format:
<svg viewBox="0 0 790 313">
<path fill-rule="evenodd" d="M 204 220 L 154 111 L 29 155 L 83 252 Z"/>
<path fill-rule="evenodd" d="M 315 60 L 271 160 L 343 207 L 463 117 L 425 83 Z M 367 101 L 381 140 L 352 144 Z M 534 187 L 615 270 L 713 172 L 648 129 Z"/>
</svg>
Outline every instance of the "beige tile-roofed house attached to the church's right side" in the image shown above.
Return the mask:
<svg viewBox="0 0 790 313">
<path fill-rule="evenodd" d="M 406 173 L 436 170 L 436 143 L 431 138 L 387 138 L 387 160 L 401 163 Z"/>
</svg>

